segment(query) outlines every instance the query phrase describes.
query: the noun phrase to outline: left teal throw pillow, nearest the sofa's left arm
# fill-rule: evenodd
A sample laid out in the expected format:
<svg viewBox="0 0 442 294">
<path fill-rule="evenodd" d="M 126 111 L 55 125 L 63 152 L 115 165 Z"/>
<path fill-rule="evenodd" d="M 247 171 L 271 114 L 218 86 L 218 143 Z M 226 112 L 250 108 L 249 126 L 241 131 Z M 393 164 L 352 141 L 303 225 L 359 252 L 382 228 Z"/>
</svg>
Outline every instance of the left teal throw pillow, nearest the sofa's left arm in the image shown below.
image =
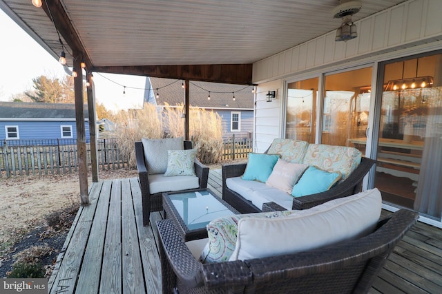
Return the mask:
<svg viewBox="0 0 442 294">
<path fill-rule="evenodd" d="M 266 182 L 279 158 L 278 154 L 250 153 L 242 180 Z"/>
</svg>

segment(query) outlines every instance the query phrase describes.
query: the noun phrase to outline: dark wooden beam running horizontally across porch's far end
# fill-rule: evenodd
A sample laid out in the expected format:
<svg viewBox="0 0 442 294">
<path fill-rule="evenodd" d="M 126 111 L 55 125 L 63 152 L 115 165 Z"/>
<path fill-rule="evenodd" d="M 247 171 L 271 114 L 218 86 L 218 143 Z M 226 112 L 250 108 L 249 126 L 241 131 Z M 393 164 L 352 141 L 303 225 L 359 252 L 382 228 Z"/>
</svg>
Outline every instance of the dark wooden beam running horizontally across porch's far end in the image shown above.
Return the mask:
<svg viewBox="0 0 442 294">
<path fill-rule="evenodd" d="M 189 81 L 227 83 L 237 85 L 252 84 L 250 64 L 211 64 L 211 65 L 136 65 L 136 66 L 96 66 L 93 72 L 109 74 L 132 74 L 155 78 L 175 78 Z"/>
</svg>

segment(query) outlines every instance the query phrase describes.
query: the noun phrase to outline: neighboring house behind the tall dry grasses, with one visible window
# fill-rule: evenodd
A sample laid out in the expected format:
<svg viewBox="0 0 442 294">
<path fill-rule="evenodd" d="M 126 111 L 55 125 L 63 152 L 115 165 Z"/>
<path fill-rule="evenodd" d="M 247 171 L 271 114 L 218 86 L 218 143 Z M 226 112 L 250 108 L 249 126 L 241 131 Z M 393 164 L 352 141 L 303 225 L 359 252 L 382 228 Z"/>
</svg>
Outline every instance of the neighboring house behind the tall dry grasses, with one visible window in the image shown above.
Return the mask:
<svg viewBox="0 0 442 294">
<path fill-rule="evenodd" d="M 165 103 L 171 106 L 184 104 L 182 81 L 168 78 L 147 78 L 146 97 L 159 94 L 155 98 L 159 107 Z M 232 135 L 236 138 L 252 138 L 253 133 L 253 98 L 252 86 L 229 85 L 221 83 L 190 82 L 190 106 L 213 110 L 222 118 L 223 138 Z M 238 92 L 237 92 L 238 91 Z M 209 99 L 210 95 L 210 99 Z M 235 97 L 233 99 L 233 96 Z"/>
</svg>

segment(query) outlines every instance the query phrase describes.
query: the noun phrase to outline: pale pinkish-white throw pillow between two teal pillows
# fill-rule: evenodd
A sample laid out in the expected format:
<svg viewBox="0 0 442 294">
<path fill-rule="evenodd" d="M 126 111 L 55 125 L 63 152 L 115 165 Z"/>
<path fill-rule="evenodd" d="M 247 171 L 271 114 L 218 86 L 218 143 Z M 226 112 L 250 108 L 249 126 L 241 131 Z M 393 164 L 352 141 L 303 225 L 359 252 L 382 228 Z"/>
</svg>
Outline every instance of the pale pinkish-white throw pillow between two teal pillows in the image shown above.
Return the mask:
<svg viewBox="0 0 442 294">
<path fill-rule="evenodd" d="M 265 183 L 273 188 L 291 193 L 291 189 L 293 189 L 293 186 L 298 182 L 307 167 L 309 165 L 291 163 L 280 158 Z"/>
</svg>

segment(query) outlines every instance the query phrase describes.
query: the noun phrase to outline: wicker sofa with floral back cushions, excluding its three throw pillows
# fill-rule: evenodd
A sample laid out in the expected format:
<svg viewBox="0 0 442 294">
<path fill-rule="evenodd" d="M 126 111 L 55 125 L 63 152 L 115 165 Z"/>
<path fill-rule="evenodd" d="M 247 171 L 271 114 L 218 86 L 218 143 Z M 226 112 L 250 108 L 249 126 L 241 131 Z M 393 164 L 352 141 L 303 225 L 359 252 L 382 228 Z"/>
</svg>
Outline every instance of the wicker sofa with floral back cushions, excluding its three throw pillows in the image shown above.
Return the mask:
<svg viewBox="0 0 442 294">
<path fill-rule="evenodd" d="M 330 159 L 321 157 L 321 152 L 329 149 L 332 149 L 332 153 L 334 154 L 334 156 L 336 156 L 336 158 Z M 338 152 L 343 154 L 343 156 L 339 156 Z M 286 205 L 282 205 L 280 203 L 278 204 L 278 200 L 281 199 L 280 191 L 278 191 L 277 189 L 269 189 L 268 186 L 265 187 L 265 198 L 269 199 L 269 201 L 262 203 L 262 205 L 260 204 L 260 206 L 262 207 L 258 207 L 257 205 L 253 204 L 253 201 L 250 200 L 251 197 L 244 197 L 244 193 L 247 192 L 242 192 L 241 194 L 240 192 L 235 191 L 233 188 L 229 187 L 229 180 L 232 180 L 232 178 L 236 178 L 236 180 L 239 180 L 239 177 L 244 174 L 244 171 L 247 167 L 247 162 L 240 164 L 222 165 L 222 198 L 233 207 L 235 207 L 238 211 L 240 211 L 240 213 L 256 213 L 260 211 L 287 209 L 309 209 L 329 200 L 358 193 L 358 191 L 361 191 L 361 185 L 364 176 L 367 174 L 372 165 L 374 165 L 374 163 L 376 162 L 375 160 L 372 160 L 370 158 L 362 157 L 361 152 L 353 147 L 316 145 L 309 144 L 305 141 L 290 139 L 273 140 L 273 143 L 265 153 L 280 154 L 282 159 L 289 162 L 300 162 L 307 163 L 308 165 L 317 165 L 321 169 L 329 171 L 342 168 L 344 165 L 348 165 L 348 161 L 356 161 L 358 162 L 358 164 L 354 165 L 353 169 L 352 167 L 349 167 L 345 178 L 343 178 L 343 180 L 340 180 L 337 185 L 327 191 L 314 193 L 302 197 L 290 197 L 288 195 L 288 201 L 289 205 L 291 204 L 291 207 L 287 207 L 286 198 Z M 348 156 L 348 154 L 351 154 L 351 156 Z M 343 159 L 343 157 L 345 158 Z M 334 160 L 344 160 L 345 164 L 340 165 L 340 162 L 333 162 Z M 237 186 L 238 185 L 241 187 L 247 186 L 246 189 L 242 190 L 249 189 L 251 193 L 260 189 L 259 187 L 257 187 L 259 185 L 261 187 L 266 186 L 264 183 L 261 182 L 247 180 L 239 180 L 239 183 L 237 182 Z M 249 188 L 248 185 L 253 186 Z M 271 198 L 275 198 L 275 200 L 271 200 Z"/>
</svg>

